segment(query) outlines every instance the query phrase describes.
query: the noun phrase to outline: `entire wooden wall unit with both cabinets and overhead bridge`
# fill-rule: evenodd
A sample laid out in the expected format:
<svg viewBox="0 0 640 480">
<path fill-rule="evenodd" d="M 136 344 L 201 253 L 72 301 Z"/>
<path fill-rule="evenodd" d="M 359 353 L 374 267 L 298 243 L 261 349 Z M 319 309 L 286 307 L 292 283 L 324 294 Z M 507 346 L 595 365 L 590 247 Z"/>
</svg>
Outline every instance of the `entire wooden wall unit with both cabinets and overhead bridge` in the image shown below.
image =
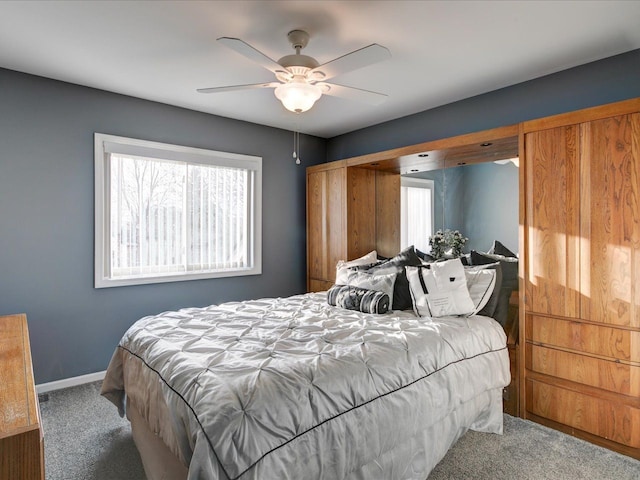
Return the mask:
<svg viewBox="0 0 640 480">
<path fill-rule="evenodd" d="M 329 288 L 339 259 L 397 252 L 399 225 L 385 229 L 399 174 L 433 168 L 419 157 L 452 166 L 514 151 L 515 410 L 640 459 L 640 98 L 310 167 L 308 287 Z"/>
</svg>

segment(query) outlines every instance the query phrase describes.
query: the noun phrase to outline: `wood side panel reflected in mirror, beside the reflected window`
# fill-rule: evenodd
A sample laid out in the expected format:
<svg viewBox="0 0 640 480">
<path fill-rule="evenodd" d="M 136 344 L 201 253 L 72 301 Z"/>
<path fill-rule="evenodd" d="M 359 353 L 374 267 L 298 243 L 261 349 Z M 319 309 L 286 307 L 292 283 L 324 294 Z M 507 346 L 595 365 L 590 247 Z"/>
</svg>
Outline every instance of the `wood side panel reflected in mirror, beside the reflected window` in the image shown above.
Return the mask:
<svg viewBox="0 0 640 480">
<path fill-rule="evenodd" d="M 400 175 L 376 172 L 376 250 L 393 257 L 400 251 Z"/>
</svg>

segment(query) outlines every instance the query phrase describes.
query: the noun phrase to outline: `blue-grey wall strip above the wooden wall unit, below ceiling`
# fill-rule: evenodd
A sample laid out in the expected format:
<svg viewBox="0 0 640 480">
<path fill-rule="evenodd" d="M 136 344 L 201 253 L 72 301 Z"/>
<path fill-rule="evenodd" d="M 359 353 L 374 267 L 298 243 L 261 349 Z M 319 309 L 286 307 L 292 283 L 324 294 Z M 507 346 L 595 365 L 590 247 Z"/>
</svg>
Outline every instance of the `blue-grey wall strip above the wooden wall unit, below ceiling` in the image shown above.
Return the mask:
<svg viewBox="0 0 640 480">
<path fill-rule="evenodd" d="M 635 97 L 640 49 L 331 138 L 327 161 Z"/>
</svg>

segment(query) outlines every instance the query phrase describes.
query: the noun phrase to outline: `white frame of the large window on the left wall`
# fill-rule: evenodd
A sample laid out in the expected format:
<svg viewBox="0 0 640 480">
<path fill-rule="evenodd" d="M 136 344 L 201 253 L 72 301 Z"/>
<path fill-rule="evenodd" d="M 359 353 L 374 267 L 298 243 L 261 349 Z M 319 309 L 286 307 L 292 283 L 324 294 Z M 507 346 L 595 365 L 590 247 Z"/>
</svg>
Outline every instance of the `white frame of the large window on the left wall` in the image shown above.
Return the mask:
<svg viewBox="0 0 640 480">
<path fill-rule="evenodd" d="M 108 145 L 108 146 L 107 146 Z M 194 273 L 144 275 L 130 278 L 111 278 L 111 201 L 108 149 L 122 148 L 138 152 L 139 156 L 147 152 L 147 157 L 162 160 L 173 160 L 182 163 L 213 165 L 221 167 L 245 168 L 253 173 L 252 189 L 248 201 L 250 230 L 249 255 L 253 259 L 250 267 L 199 271 Z M 154 157 L 153 155 L 156 156 Z M 157 156 L 161 155 L 161 157 Z M 129 285 L 146 285 L 153 283 L 202 280 L 210 278 L 237 277 L 262 274 L 262 157 L 238 153 L 220 152 L 202 148 L 153 142 L 103 133 L 94 133 L 94 181 L 95 181 L 95 213 L 94 213 L 94 287 L 108 288 Z"/>
</svg>

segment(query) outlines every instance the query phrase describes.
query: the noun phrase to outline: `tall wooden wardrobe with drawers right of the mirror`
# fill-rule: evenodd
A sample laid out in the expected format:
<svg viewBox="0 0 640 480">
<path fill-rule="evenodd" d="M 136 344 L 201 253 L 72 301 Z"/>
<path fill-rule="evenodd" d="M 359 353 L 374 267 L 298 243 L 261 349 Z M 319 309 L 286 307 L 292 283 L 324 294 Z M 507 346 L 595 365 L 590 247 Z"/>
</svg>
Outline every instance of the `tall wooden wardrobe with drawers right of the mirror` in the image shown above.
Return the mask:
<svg viewBox="0 0 640 480">
<path fill-rule="evenodd" d="M 521 132 L 521 412 L 640 458 L 640 99 Z"/>
</svg>

